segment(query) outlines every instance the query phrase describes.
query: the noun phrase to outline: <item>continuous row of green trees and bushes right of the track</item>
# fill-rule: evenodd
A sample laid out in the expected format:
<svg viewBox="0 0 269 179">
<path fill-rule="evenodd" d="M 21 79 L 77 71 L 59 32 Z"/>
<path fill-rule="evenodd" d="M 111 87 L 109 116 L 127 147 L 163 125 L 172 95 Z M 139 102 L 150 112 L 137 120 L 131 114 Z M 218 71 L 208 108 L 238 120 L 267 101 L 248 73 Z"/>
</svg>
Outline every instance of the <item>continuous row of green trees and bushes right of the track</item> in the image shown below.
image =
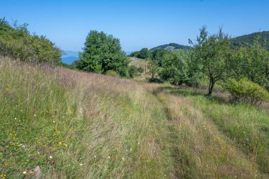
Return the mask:
<svg viewBox="0 0 269 179">
<path fill-rule="evenodd" d="M 234 100 L 247 99 L 250 103 L 269 100 L 269 52 L 266 43 L 261 43 L 259 35 L 252 43 L 244 43 L 238 48 L 233 48 L 231 43 L 231 38 L 222 29 L 210 35 L 203 27 L 195 42 L 190 40 L 191 50 L 149 52 L 142 49 L 137 57 L 149 60 L 151 81 L 156 74 L 176 85 L 201 86 L 208 81 L 209 95 L 219 83 Z"/>
</svg>

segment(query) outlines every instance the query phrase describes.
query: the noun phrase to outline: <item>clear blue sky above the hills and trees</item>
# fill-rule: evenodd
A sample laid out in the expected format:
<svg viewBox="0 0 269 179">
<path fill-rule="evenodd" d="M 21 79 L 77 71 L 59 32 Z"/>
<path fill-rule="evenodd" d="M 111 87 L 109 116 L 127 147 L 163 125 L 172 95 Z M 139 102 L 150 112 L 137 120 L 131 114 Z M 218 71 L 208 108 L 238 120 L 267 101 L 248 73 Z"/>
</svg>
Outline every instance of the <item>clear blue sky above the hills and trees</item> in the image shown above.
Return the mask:
<svg viewBox="0 0 269 179">
<path fill-rule="evenodd" d="M 232 37 L 269 30 L 268 0 L 0 0 L 0 17 L 28 23 L 62 50 L 79 51 L 90 30 L 120 38 L 123 50 L 188 45 L 202 25 Z"/>
</svg>

